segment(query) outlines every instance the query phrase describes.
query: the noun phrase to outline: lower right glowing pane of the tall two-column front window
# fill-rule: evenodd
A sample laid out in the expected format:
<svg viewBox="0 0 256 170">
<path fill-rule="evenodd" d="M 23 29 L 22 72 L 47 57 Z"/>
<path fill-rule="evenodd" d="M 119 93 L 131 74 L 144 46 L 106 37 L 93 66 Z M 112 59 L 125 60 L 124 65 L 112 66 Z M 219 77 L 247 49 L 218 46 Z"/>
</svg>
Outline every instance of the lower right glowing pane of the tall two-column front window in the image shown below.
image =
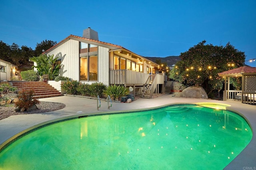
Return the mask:
<svg viewBox="0 0 256 170">
<path fill-rule="evenodd" d="M 98 80 L 98 56 L 92 55 L 89 57 L 89 81 Z"/>
</svg>

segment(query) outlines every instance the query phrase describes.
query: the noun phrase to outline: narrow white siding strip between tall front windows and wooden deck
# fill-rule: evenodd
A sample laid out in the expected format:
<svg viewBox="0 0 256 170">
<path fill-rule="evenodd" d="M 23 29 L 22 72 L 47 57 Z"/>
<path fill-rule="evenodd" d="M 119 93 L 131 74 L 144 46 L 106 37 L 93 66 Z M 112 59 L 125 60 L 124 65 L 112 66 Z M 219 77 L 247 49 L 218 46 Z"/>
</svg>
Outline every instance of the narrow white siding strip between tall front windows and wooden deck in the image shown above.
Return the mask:
<svg viewBox="0 0 256 170">
<path fill-rule="evenodd" d="M 109 84 L 108 48 L 98 46 L 98 82 Z"/>
</svg>

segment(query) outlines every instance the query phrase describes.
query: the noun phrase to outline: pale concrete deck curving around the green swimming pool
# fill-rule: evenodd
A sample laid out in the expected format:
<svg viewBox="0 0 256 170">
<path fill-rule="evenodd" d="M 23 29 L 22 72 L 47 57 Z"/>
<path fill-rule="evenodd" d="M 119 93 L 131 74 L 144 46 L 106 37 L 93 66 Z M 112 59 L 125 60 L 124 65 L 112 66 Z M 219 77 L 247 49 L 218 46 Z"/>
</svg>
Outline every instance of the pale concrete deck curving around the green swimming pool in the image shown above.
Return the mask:
<svg viewBox="0 0 256 170">
<path fill-rule="evenodd" d="M 172 94 L 165 94 L 163 96 L 147 99 L 139 98 L 132 103 L 113 102 L 110 110 L 108 109 L 108 102 L 101 101 L 101 107 L 97 110 L 97 100 L 80 98 L 73 96 L 60 96 L 54 98 L 40 99 L 44 102 L 58 102 L 66 105 L 65 108 L 50 111 L 46 113 L 35 113 L 27 115 L 13 115 L 6 119 L 0 120 L 0 145 L 12 136 L 20 133 L 39 123 L 58 119 L 72 115 L 93 115 L 106 113 L 110 111 L 122 111 L 132 109 L 145 109 L 150 107 L 163 106 L 174 103 L 198 103 L 198 102 L 212 102 L 220 104 L 229 104 L 227 109 L 234 110 L 243 115 L 253 131 L 252 141 L 249 145 L 225 168 L 227 170 L 246 170 L 256 168 L 256 106 L 242 104 L 240 101 L 219 101 L 206 99 L 191 99 L 191 98 L 177 98 L 172 97 Z"/>
</svg>

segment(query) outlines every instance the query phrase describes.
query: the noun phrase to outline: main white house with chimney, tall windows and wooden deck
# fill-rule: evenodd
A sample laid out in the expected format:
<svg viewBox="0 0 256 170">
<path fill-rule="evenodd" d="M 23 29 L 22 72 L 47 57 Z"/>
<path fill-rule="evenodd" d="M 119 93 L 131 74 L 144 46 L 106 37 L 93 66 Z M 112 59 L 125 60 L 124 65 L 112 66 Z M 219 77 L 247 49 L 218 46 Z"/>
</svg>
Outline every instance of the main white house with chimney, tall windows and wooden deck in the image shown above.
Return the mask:
<svg viewBox="0 0 256 170">
<path fill-rule="evenodd" d="M 84 29 L 82 37 L 70 35 L 44 54 L 60 57 L 60 75 L 73 80 L 133 86 L 137 91 L 143 90 L 148 98 L 154 92 L 164 92 L 168 68 L 120 45 L 99 41 L 98 33 L 90 27 Z"/>
</svg>

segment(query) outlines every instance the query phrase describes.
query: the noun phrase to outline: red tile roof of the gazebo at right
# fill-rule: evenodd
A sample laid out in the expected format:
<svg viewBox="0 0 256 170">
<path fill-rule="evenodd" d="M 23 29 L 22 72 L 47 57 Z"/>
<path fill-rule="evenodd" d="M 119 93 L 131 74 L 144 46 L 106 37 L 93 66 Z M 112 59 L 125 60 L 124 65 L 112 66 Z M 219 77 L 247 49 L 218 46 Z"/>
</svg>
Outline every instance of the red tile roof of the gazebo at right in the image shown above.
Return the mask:
<svg viewBox="0 0 256 170">
<path fill-rule="evenodd" d="M 219 76 L 242 76 L 242 74 L 255 74 L 256 75 L 256 67 L 242 66 L 239 68 L 234 68 L 232 70 L 218 73 Z"/>
</svg>

